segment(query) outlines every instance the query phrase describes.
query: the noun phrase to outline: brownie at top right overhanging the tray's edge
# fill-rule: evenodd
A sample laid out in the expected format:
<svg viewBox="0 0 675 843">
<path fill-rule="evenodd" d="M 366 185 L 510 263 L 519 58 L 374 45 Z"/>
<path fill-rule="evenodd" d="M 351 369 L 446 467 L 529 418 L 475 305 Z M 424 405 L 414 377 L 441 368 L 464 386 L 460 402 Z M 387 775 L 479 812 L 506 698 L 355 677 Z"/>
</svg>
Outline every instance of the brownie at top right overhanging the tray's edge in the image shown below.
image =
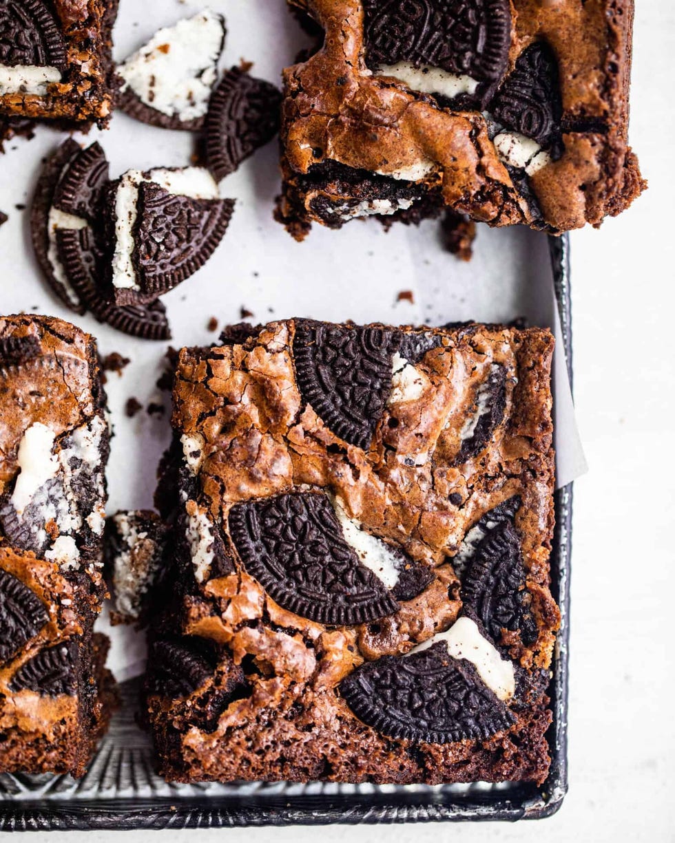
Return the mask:
<svg viewBox="0 0 675 843">
<path fill-rule="evenodd" d="M 322 46 L 284 72 L 284 196 L 316 221 L 445 205 L 599 225 L 645 183 L 627 144 L 632 0 L 289 0 Z"/>
</svg>

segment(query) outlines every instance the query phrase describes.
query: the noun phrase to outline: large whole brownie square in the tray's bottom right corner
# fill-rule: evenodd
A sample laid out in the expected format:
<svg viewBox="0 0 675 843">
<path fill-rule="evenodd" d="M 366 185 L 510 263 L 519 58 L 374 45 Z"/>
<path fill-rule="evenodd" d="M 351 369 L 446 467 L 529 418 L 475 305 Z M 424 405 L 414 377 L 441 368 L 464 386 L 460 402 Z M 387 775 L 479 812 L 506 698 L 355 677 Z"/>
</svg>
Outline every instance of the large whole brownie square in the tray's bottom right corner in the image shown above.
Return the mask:
<svg viewBox="0 0 675 843">
<path fill-rule="evenodd" d="M 548 330 L 289 319 L 185 348 L 148 722 L 175 781 L 537 781 Z"/>
</svg>

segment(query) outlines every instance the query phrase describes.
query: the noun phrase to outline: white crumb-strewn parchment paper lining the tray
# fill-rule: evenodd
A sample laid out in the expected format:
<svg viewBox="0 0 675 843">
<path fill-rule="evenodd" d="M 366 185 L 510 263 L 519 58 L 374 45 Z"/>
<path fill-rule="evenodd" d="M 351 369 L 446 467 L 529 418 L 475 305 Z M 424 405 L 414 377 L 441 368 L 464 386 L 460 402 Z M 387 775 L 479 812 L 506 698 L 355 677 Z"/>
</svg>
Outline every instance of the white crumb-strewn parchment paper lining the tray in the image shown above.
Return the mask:
<svg viewBox="0 0 675 843">
<path fill-rule="evenodd" d="M 116 57 L 141 46 L 160 26 L 197 13 L 206 3 L 179 0 L 122 0 L 116 25 Z M 253 73 L 278 83 L 280 68 L 292 63 L 307 36 L 290 18 L 284 0 L 212 0 L 225 14 L 228 36 L 223 66 L 246 58 Z M 115 438 L 107 470 L 109 513 L 118 508 L 150 507 L 155 470 L 170 439 L 169 396 L 155 381 L 162 371 L 165 343 L 127 337 L 90 316 L 79 317 L 62 306 L 43 282 L 30 246 L 27 205 L 41 169 L 41 159 L 63 137 L 41 127 L 30 141 L 8 144 L 0 156 L 0 210 L 9 221 L 0 228 L 0 312 L 51 314 L 69 319 L 99 340 L 100 352 L 120 352 L 131 362 L 121 377 L 108 376 L 107 392 Z M 185 166 L 194 138 L 187 132 L 154 129 L 116 114 L 106 132 L 94 130 L 83 142 L 98 139 L 111 163 L 111 177 L 125 169 Z M 238 172 L 221 183 L 223 196 L 236 199 L 235 215 L 213 258 L 195 276 L 165 296 L 171 345 L 215 341 L 208 320 L 219 328 L 240 321 L 240 309 L 266 322 L 289 316 L 354 319 L 392 324 L 440 325 L 476 319 L 503 321 L 525 316 L 531 325 L 549 326 L 559 341 L 554 356 L 554 416 L 559 486 L 586 470 L 564 364 L 561 331 L 545 236 L 525 229 L 480 227 L 473 260 L 456 260 L 443 249 L 439 224 L 419 228 L 394 226 L 386 233 L 373 220 L 349 223 L 333 232 L 316 226 L 297 244 L 274 223 L 272 208 L 279 190 L 276 142 L 260 150 Z M 413 302 L 398 301 L 412 291 Z M 131 396 L 146 407 L 166 406 L 164 417 L 145 411 L 128 419 L 124 405 Z M 105 631 L 107 620 L 100 621 Z M 143 664 L 143 636 L 116 627 L 111 631 L 111 666 L 118 679 L 138 674 Z"/>
</svg>

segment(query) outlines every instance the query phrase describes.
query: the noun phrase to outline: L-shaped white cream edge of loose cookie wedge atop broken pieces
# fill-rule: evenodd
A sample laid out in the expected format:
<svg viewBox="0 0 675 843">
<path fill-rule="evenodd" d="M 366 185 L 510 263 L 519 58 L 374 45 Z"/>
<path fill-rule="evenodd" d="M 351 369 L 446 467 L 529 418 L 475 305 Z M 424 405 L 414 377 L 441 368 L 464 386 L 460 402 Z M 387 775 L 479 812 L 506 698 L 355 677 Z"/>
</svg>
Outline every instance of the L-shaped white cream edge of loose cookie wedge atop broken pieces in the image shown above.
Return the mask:
<svg viewBox="0 0 675 843">
<path fill-rule="evenodd" d="M 133 225 L 137 217 L 138 185 L 152 181 L 173 196 L 190 196 L 192 199 L 218 199 L 218 184 L 208 169 L 160 167 L 143 173 L 129 169 L 122 175 L 115 196 L 115 253 L 112 257 L 112 283 L 118 289 L 138 290 L 136 271 L 133 268 Z"/>
</svg>

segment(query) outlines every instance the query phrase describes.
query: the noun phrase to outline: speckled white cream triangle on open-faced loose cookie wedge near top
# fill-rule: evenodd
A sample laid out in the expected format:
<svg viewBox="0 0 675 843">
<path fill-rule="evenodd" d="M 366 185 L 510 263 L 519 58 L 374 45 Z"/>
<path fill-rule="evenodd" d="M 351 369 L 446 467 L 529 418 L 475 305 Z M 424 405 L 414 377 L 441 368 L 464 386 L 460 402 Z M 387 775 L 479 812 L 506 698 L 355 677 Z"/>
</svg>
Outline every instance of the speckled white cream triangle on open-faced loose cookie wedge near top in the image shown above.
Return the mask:
<svg viewBox="0 0 675 843">
<path fill-rule="evenodd" d="M 202 117 L 216 81 L 223 35 L 222 17 L 209 9 L 158 30 L 117 66 L 122 90 L 132 89 L 150 108 L 181 121 Z"/>
</svg>

